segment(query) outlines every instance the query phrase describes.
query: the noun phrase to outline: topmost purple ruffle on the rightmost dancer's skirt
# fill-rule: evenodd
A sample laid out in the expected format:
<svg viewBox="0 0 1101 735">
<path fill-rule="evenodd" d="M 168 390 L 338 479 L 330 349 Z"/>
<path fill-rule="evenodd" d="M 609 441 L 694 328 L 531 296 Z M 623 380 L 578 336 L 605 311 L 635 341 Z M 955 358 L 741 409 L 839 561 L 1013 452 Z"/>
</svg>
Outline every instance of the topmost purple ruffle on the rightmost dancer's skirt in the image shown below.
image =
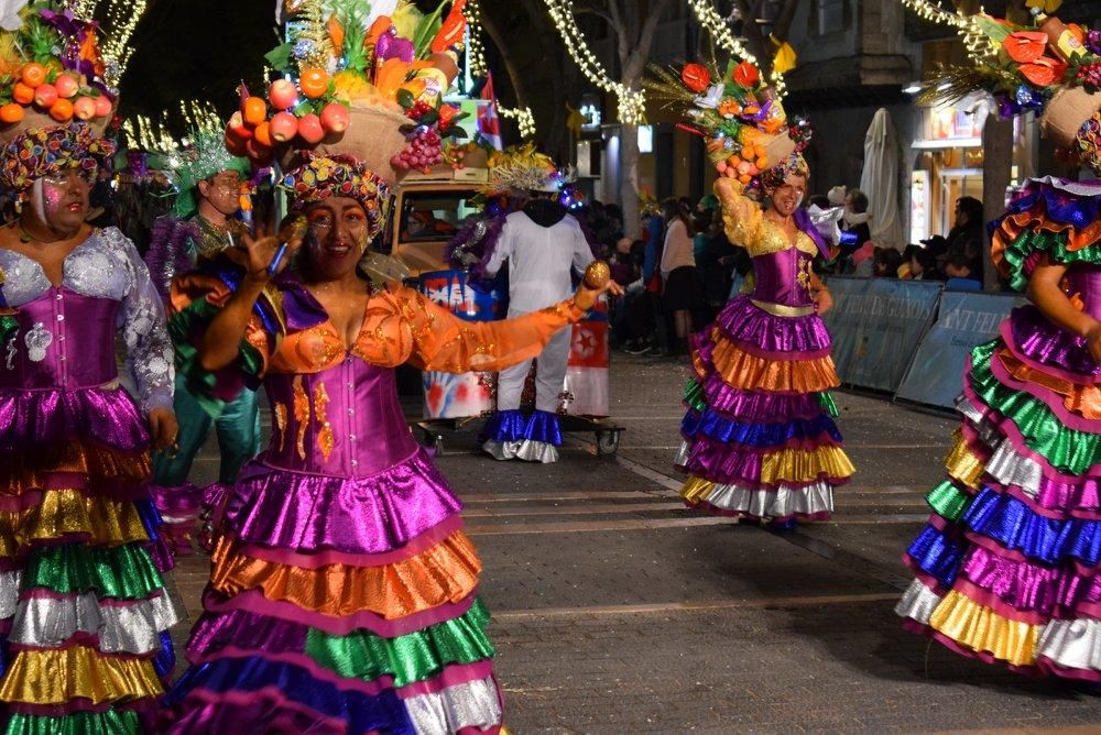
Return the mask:
<svg viewBox="0 0 1101 735">
<path fill-rule="evenodd" d="M 1093 362 L 1086 340 L 1055 326 L 1035 306 L 1013 309 L 1002 328 L 1017 356 L 1077 383 L 1101 381 L 1101 365 Z"/>
</svg>

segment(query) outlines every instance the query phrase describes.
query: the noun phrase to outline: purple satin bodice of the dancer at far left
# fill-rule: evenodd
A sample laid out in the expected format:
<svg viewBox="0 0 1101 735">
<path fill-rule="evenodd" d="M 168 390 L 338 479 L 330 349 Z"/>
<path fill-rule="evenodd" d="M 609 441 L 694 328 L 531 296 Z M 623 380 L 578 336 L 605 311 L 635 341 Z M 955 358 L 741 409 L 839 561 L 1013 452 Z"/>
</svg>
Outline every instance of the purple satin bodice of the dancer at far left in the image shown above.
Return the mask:
<svg viewBox="0 0 1101 735">
<path fill-rule="evenodd" d="M 120 301 L 50 288 L 19 307 L 19 329 L 0 345 L 0 387 L 75 390 L 118 379 Z"/>
</svg>

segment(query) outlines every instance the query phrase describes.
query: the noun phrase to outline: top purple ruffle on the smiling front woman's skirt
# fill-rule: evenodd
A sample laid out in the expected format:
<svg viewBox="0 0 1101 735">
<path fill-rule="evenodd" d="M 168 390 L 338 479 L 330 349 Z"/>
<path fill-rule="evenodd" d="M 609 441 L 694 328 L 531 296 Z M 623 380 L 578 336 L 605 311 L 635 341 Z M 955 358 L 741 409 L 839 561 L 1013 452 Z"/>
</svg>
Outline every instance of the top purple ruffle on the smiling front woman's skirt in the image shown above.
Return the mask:
<svg viewBox="0 0 1101 735">
<path fill-rule="evenodd" d="M 367 478 L 247 465 L 226 507 L 242 541 L 313 553 L 382 553 L 459 513 L 462 504 L 422 449 Z"/>
</svg>

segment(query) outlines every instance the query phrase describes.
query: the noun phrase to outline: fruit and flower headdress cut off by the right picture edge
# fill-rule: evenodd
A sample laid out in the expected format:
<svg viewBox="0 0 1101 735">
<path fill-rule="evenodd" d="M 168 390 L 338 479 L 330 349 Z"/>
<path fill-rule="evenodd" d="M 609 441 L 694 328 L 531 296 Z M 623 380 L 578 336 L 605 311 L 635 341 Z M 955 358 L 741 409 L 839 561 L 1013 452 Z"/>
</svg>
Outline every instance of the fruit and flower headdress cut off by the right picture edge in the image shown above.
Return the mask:
<svg viewBox="0 0 1101 735">
<path fill-rule="evenodd" d="M 918 100 L 986 92 L 1003 118 L 1035 111 L 1047 138 L 1101 174 L 1101 31 L 1036 11 L 1027 25 L 980 14 L 972 28 L 986 41 L 981 61 L 940 69 Z"/>
</svg>

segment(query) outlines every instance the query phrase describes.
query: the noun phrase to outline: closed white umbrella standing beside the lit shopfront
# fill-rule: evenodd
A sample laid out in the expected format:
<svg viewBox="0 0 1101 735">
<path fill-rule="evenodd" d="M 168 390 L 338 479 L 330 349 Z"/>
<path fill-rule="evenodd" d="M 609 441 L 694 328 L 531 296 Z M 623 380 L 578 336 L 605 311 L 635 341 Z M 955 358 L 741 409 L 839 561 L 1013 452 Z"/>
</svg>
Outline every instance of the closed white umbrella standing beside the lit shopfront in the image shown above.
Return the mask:
<svg viewBox="0 0 1101 735">
<path fill-rule="evenodd" d="M 904 245 L 898 213 L 898 139 L 891 116 L 882 107 L 864 134 L 860 190 L 868 195 L 872 240 L 893 248 Z"/>
</svg>

